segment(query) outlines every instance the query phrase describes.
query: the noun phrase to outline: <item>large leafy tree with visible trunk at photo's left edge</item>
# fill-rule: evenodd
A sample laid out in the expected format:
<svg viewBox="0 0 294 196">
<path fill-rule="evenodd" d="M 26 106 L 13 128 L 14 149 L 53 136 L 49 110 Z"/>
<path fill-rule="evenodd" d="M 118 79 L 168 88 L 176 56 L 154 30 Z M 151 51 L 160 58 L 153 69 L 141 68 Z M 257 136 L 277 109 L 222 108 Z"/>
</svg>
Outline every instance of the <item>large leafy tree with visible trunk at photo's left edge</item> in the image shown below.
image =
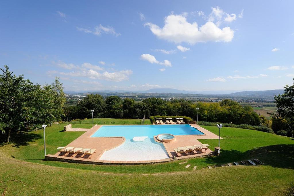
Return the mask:
<svg viewBox="0 0 294 196">
<path fill-rule="evenodd" d="M 39 88 L 23 75 L 16 76 L 4 65 L 0 75 L 0 130 L 7 132 L 9 142 L 12 129 L 20 130 L 28 122 L 27 103 L 33 99 L 32 92 Z"/>
</svg>

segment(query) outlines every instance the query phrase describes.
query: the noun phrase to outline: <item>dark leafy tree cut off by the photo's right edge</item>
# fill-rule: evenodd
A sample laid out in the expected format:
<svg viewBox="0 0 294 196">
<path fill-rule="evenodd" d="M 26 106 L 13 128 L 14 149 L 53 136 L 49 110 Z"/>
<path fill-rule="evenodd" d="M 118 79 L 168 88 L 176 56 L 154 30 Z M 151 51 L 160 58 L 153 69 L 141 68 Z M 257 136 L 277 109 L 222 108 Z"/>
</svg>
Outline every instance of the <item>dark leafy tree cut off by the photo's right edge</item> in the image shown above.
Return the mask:
<svg viewBox="0 0 294 196">
<path fill-rule="evenodd" d="M 282 95 L 275 95 L 277 113 L 276 118 L 285 118 L 288 121 L 288 132 L 294 134 L 294 78 L 293 85 L 285 85 Z"/>
</svg>

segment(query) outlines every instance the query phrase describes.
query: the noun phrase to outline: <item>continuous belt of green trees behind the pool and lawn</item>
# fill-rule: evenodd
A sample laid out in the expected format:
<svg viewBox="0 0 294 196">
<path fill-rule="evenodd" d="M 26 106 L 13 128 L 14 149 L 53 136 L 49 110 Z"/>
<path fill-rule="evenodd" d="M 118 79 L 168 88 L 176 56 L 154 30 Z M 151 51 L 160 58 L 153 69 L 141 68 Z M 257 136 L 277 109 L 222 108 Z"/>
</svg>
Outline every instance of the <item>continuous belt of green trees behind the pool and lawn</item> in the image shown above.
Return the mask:
<svg viewBox="0 0 294 196">
<path fill-rule="evenodd" d="M 250 106 L 240 106 L 237 102 L 225 99 L 218 103 L 192 103 L 183 99 L 165 101 L 161 98 L 146 98 L 136 103 L 132 98 L 121 99 L 101 95 L 87 95 L 76 106 L 66 106 L 65 119 L 92 118 L 149 118 L 150 116 L 188 116 L 208 122 L 224 122 L 233 124 L 249 124 L 255 126 L 271 126 L 271 121 L 258 115 Z M 270 123 L 270 124 L 269 124 Z"/>
</svg>

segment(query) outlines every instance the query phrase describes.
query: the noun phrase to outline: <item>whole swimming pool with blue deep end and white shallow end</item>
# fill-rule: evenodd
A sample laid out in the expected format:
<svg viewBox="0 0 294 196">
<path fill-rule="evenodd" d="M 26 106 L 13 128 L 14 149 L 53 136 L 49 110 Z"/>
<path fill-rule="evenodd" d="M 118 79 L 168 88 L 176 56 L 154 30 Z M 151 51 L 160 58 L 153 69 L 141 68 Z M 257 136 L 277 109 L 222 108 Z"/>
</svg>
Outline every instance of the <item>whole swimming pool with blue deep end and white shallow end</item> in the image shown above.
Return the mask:
<svg viewBox="0 0 294 196">
<path fill-rule="evenodd" d="M 153 136 L 158 134 L 203 135 L 188 124 L 182 125 L 111 125 L 102 126 L 91 137 L 125 137 L 120 146 L 105 151 L 100 160 L 110 161 L 148 161 L 168 159 L 168 153 L 162 143 Z M 133 141 L 134 137 L 148 136 L 143 141 Z"/>
</svg>

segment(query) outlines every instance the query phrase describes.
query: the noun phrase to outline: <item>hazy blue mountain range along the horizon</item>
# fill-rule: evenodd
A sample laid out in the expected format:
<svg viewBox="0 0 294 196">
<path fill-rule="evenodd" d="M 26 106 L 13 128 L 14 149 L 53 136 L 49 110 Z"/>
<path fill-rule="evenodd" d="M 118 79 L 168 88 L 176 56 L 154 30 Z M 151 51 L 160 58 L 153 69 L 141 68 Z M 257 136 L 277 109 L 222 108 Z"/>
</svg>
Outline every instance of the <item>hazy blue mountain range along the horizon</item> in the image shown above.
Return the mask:
<svg viewBox="0 0 294 196">
<path fill-rule="evenodd" d="M 67 94 L 78 94 L 87 92 L 75 92 L 70 90 L 65 90 L 64 93 Z M 93 93 L 175 93 L 175 94 L 197 94 L 197 95 L 222 95 L 224 97 L 259 97 L 268 98 L 274 97 L 274 95 L 283 94 L 283 89 L 277 90 L 251 90 L 251 91 L 238 91 L 238 90 L 206 90 L 206 91 L 188 91 L 188 90 L 178 90 L 174 88 L 151 88 L 149 90 L 100 90 Z"/>
</svg>

